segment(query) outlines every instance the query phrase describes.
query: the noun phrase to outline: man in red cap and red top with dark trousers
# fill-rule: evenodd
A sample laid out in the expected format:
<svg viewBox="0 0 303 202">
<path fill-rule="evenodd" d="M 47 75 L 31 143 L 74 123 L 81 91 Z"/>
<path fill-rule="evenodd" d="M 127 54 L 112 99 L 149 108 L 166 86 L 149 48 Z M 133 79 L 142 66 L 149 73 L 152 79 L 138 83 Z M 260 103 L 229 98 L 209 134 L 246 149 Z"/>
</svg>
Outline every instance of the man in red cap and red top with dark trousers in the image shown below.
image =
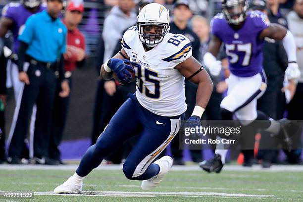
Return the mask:
<svg viewBox="0 0 303 202">
<path fill-rule="evenodd" d="M 65 78 L 71 88 L 72 72 L 76 67 L 83 67 L 85 61 L 85 38 L 77 28 L 84 12 L 83 3 L 70 1 L 65 10 L 62 22 L 67 27 L 67 45 L 64 56 Z M 52 125 L 50 127 L 49 163 L 62 164 L 59 145 L 62 140 L 64 126 L 67 118 L 70 95 L 62 98 L 60 79 L 57 80 L 57 89 L 53 106 Z"/>
</svg>

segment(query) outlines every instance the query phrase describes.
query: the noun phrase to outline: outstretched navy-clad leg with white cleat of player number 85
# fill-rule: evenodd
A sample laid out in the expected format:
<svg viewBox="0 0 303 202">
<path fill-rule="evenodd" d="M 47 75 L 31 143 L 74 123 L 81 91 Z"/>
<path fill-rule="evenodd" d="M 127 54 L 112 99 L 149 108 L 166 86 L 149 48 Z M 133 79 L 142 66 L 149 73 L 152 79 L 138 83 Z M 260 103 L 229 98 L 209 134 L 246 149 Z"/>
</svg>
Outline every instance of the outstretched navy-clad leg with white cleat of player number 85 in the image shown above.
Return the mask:
<svg viewBox="0 0 303 202">
<path fill-rule="evenodd" d="M 75 174 L 55 188 L 54 193 L 82 191 L 84 177 L 98 167 L 103 158 L 113 152 L 115 148 L 121 147 L 125 141 L 142 131 L 136 107 L 137 105 L 131 99 L 122 104 L 101 133 L 97 143 L 85 152 Z"/>
</svg>

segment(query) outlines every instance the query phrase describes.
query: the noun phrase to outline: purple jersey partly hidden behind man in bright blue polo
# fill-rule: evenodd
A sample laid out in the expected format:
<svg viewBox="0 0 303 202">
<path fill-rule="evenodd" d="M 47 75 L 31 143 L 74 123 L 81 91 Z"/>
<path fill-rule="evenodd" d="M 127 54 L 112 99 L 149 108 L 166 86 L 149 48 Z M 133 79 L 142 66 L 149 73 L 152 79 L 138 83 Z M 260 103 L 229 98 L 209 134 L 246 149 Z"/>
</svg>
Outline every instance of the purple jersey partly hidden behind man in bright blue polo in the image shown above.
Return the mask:
<svg viewBox="0 0 303 202">
<path fill-rule="evenodd" d="M 39 13 L 45 10 L 46 7 L 44 5 L 40 5 L 35 13 Z M 14 51 L 17 52 L 19 48 L 19 40 L 18 35 L 24 28 L 24 24 L 29 16 L 35 14 L 30 12 L 28 9 L 24 7 L 21 3 L 8 3 L 2 9 L 2 16 L 7 17 L 13 20 L 13 25 L 11 28 L 13 37 L 14 37 Z"/>
</svg>

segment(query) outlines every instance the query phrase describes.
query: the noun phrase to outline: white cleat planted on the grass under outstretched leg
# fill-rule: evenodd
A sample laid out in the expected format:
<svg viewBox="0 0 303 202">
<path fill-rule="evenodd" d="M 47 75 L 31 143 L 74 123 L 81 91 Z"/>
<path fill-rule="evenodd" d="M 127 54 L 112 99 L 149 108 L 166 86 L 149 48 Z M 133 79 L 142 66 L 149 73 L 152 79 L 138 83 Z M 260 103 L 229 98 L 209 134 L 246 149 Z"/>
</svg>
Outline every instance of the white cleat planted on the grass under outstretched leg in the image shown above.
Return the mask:
<svg viewBox="0 0 303 202">
<path fill-rule="evenodd" d="M 74 176 L 68 178 L 63 184 L 57 186 L 53 193 L 55 194 L 77 194 L 82 192 L 82 180 L 77 180 Z"/>
</svg>

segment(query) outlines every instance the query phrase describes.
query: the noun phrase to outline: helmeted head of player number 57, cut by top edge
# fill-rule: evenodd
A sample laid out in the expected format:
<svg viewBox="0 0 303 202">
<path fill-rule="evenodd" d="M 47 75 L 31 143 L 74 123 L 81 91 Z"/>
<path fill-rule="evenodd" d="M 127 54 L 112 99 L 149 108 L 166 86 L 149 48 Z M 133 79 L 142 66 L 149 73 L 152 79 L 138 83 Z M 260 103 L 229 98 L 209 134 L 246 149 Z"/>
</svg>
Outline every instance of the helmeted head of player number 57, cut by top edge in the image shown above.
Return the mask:
<svg viewBox="0 0 303 202">
<path fill-rule="evenodd" d="M 246 18 L 247 0 L 223 0 L 222 12 L 228 23 L 239 25 Z"/>
</svg>

